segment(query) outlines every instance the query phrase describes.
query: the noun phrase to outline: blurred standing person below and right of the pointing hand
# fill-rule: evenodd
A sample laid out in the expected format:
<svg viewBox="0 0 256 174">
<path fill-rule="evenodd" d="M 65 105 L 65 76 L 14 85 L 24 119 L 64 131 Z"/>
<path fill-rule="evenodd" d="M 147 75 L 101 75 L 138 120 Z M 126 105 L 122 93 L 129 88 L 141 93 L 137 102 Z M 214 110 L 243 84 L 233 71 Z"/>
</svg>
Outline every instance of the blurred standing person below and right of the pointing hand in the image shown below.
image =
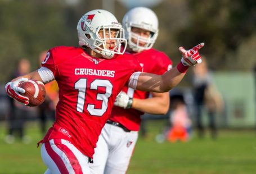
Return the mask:
<svg viewBox="0 0 256 174">
<path fill-rule="evenodd" d="M 198 66 L 193 68 L 194 76 L 192 78 L 194 84 L 194 99 L 195 99 L 195 118 L 196 129 L 199 137 L 203 138 L 205 129 L 202 123 L 203 109 L 209 116 L 209 128 L 213 139 L 217 137 L 217 125 L 215 115 L 222 110 L 223 101 L 217 88 L 213 84 L 213 77 L 208 70 L 206 59 Z"/>
</svg>

